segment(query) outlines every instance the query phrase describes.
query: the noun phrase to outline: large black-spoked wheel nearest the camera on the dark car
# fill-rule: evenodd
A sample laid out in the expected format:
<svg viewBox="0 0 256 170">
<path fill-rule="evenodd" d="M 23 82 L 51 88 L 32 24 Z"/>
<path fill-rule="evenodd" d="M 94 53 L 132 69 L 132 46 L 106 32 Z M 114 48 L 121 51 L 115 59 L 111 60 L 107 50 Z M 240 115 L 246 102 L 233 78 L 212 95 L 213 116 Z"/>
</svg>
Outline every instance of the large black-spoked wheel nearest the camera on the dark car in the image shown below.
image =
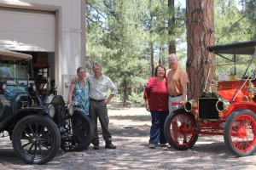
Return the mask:
<svg viewBox="0 0 256 170">
<path fill-rule="evenodd" d="M 61 135 L 58 127 L 47 116 L 30 115 L 17 122 L 12 133 L 12 144 L 22 161 L 44 164 L 58 152 Z"/>
</svg>

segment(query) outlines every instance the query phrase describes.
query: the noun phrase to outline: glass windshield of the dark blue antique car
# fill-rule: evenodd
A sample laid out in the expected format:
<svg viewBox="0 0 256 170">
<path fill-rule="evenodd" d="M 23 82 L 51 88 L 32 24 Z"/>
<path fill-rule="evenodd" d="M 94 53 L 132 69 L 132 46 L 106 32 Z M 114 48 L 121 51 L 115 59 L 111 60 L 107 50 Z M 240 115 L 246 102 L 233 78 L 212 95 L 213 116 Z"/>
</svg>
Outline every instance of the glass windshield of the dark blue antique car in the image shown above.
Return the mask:
<svg viewBox="0 0 256 170">
<path fill-rule="evenodd" d="M 0 63 L 0 80 L 26 80 L 27 77 L 26 65 Z"/>
</svg>

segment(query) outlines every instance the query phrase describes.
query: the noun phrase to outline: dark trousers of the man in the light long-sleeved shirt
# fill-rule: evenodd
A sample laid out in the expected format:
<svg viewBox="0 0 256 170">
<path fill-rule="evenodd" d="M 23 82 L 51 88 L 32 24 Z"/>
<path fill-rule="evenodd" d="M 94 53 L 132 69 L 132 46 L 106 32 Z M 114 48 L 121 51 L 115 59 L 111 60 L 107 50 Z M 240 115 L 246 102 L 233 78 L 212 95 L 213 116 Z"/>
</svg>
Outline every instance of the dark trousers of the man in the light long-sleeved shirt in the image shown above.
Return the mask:
<svg viewBox="0 0 256 170">
<path fill-rule="evenodd" d="M 105 140 L 106 144 L 109 144 L 112 142 L 111 134 L 108 130 L 108 109 L 107 105 L 104 105 L 102 101 L 93 101 L 90 100 L 90 117 L 92 118 L 93 122 L 95 123 L 95 134 L 94 139 L 92 141 L 92 144 L 98 145 L 99 144 L 99 135 L 97 130 L 97 118 L 99 117 L 99 121 L 102 126 L 102 136 Z"/>
</svg>

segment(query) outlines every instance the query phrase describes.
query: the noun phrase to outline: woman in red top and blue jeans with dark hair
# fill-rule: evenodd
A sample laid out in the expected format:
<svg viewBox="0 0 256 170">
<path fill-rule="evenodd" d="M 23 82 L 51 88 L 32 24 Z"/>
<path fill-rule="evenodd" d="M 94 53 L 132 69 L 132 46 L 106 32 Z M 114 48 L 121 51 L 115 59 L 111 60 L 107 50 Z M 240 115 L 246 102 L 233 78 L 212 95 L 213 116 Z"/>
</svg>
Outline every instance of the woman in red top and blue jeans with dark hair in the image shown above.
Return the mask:
<svg viewBox="0 0 256 170">
<path fill-rule="evenodd" d="M 155 77 L 148 79 L 144 99 L 147 111 L 150 111 L 152 117 L 152 126 L 150 128 L 149 148 L 154 149 L 160 143 L 160 146 L 166 146 L 164 134 L 164 124 L 168 116 L 168 91 L 166 88 L 166 68 L 163 65 L 155 67 Z"/>
</svg>

